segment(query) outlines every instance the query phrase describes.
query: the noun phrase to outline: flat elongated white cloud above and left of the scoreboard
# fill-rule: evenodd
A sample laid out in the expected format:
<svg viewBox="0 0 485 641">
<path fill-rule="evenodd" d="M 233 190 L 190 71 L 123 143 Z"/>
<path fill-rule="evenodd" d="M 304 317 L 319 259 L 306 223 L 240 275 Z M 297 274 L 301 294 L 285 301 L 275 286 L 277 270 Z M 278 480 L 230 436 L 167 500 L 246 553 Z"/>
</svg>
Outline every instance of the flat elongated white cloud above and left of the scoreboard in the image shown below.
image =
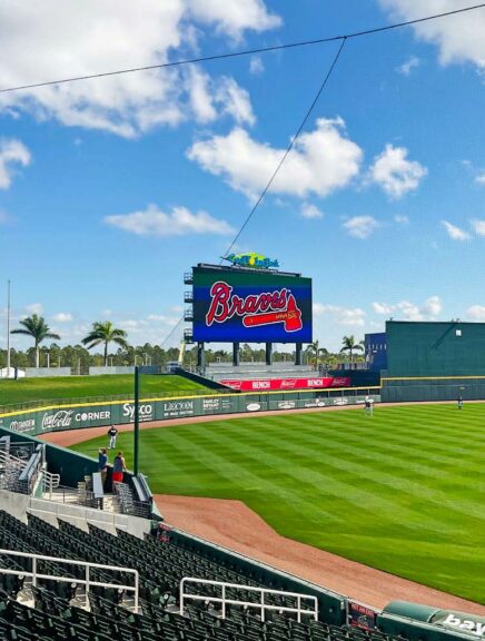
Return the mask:
<svg viewBox="0 0 485 641">
<path fill-rule="evenodd" d="M 206 211 L 192 214 L 186 207 L 174 207 L 170 213 L 165 213 L 156 205 L 149 205 L 147 209 L 123 214 L 119 216 L 106 216 L 105 221 L 113 227 L 125 229 L 138 236 L 181 236 L 186 234 L 234 234 L 234 228 L 218 218 L 212 218 Z"/>
</svg>

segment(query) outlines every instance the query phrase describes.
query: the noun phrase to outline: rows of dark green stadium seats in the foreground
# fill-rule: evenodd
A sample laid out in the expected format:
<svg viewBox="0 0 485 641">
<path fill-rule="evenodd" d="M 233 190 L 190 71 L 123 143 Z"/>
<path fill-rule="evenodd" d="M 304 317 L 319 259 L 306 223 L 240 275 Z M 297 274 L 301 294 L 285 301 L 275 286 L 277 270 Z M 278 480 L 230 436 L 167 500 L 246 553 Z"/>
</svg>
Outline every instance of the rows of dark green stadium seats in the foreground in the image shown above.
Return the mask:
<svg viewBox="0 0 485 641">
<path fill-rule="evenodd" d="M 275 588 L 261 582 L 257 571 L 238 572 L 215 562 L 208 554 L 197 553 L 152 535 L 138 539 L 125 531 L 110 534 L 93 525 L 85 532 L 58 520 L 58 527 L 32 514 L 23 523 L 9 513 L 0 512 L 0 548 L 12 551 L 57 556 L 59 559 L 113 564 L 138 570 L 140 575 L 139 610 L 133 611 L 132 599 L 121 589 L 92 585 L 89 602 L 83 588 L 52 579 L 27 579 L 0 572 L 0 639 L 8 641 L 394 641 L 374 631 L 365 632 L 346 627 L 333 627 L 303 614 L 298 622 L 283 615 L 279 608 L 291 607 L 293 598 L 268 598 L 278 608 L 268 612 L 265 621 L 256 610 L 228 605 L 226 619 L 217 607 L 205 601 L 189 604 L 185 615 L 179 613 L 179 584 L 184 576 L 227 581 L 242 585 L 244 600 L 254 601 L 254 593 L 244 585 Z M 0 553 L 0 568 L 30 571 L 30 559 Z M 58 576 L 80 576 L 82 568 L 55 561 L 38 562 L 40 571 Z M 92 581 L 111 581 L 105 570 L 92 570 Z M 120 575 L 120 581 L 128 576 Z M 208 588 L 211 593 L 211 588 Z M 214 591 L 216 595 L 216 591 Z M 230 589 L 227 596 L 231 599 Z M 234 594 L 241 599 L 240 590 Z"/>
</svg>

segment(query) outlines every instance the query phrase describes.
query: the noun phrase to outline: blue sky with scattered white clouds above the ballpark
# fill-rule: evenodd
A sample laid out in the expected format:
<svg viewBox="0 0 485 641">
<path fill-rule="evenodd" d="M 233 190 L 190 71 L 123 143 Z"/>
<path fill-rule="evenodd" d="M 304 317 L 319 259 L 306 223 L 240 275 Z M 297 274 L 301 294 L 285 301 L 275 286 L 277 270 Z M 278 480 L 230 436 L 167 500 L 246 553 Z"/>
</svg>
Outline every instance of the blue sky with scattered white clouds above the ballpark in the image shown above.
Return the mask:
<svg viewBox="0 0 485 641">
<path fill-rule="evenodd" d="M 0 87 L 348 33 L 471 3 L 69 4 L 0 2 Z M 328 348 L 390 316 L 485 320 L 484 32 L 478 10 L 347 41 L 238 240 L 238 250 L 314 278 L 314 334 Z M 109 318 L 136 344 L 160 343 L 182 310 L 184 272 L 225 253 L 337 47 L 0 95 L 0 273 L 12 279 L 16 319 L 42 313 L 73 343 Z"/>
</svg>

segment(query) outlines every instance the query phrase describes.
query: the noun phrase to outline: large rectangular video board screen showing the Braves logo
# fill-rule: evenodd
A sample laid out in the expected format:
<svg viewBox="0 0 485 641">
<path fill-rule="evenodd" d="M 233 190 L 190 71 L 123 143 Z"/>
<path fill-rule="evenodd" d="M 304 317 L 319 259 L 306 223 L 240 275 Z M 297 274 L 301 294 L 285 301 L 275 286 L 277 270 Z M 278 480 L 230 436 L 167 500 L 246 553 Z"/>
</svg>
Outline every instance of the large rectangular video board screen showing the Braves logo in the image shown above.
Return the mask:
<svg viewBox="0 0 485 641">
<path fill-rule="evenodd" d="M 194 267 L 194 341 L 311 343 L 311 278 Z"/>
</svg>

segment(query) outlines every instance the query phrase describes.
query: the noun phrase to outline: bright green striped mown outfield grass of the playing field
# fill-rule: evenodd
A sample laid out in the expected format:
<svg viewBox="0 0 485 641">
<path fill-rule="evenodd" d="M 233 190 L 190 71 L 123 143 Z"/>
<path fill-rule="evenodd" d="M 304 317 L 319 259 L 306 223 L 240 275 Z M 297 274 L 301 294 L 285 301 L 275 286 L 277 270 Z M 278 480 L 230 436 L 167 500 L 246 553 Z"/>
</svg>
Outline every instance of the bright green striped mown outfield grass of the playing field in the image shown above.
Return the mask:
<svg viewBox="0 0 485 641">
<path fill-rule="evenodd" d="M 484 462 L 485 404 L 215 421 L 140 445 L 156 493 L 239 499 L 286 536 L 482 603 Z"/>
</svg>

